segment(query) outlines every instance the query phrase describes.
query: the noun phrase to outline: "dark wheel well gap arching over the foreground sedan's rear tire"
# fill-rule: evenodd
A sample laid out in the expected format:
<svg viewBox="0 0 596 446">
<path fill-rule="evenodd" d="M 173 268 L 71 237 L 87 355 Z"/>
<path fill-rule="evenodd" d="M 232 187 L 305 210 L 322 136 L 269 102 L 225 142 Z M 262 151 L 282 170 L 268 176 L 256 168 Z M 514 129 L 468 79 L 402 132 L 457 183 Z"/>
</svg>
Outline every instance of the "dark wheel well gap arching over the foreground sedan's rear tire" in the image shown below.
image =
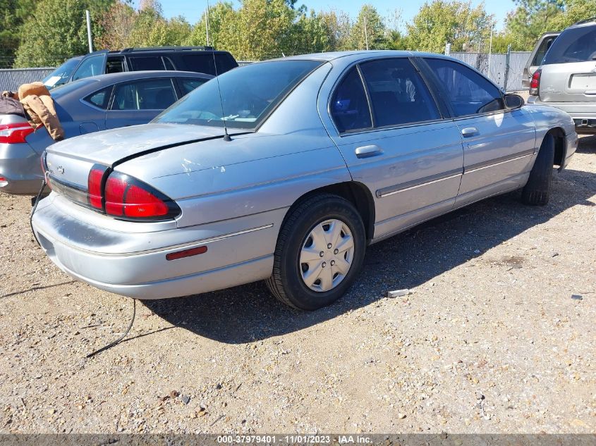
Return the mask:
<svg viewBox="0 0 596 446">
<path fill-rule="evenodd" d="M 370 190 L 368 190 L 363 183 L 347 181 L 319 187 L 298 198 L 296 202 L 292 204 L 291 209 L 296 207 L 303 201 L 303 199 L 322 193 L 338 195 L 339 197 L 348 200 L 348 202 L 351 202 L 351 204 L 358 210 L 360 218 L 362 218 L 367 240 L 372 240 L 372 237 L 375 235 L 375 201 L 372 198 Z M 289 213 L 290 212 L 288 211 L 286 216 L 289 215 Z"/>
</svg>

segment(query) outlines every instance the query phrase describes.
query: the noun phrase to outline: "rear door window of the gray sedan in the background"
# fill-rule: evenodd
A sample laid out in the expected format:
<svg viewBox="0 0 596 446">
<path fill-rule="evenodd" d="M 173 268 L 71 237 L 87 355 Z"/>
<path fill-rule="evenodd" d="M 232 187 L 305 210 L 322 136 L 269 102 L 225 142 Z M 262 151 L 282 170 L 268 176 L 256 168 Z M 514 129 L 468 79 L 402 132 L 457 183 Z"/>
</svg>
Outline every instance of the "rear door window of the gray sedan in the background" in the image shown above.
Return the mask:
<svg viewBox="0 0 596 446">
<path fill-rule="evenodd" d="M 176 102 L 170 78 L 138 80 L 116 85 L 112 110 L 164 110 Z"/>
</svg>

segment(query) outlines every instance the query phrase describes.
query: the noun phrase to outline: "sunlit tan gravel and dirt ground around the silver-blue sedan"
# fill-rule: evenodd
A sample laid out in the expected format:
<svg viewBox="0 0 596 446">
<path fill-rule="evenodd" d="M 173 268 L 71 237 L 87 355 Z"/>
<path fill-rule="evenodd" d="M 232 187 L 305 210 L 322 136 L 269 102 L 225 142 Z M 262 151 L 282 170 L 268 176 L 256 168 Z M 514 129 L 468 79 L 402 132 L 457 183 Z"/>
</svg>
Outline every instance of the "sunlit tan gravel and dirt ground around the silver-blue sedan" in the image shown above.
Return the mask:
<svg viewBox="0 0 596 446">
<path fill-rule="evenodd" d="M 555 178 L 548 206 L 506 194 L 370 247 L 327 309 L 262 284 L 142 302 L 92 359 L 131 301 L 61 273 L 0 194 L 0 431 L 593 433 L 596 137 Z"/>
</svg>

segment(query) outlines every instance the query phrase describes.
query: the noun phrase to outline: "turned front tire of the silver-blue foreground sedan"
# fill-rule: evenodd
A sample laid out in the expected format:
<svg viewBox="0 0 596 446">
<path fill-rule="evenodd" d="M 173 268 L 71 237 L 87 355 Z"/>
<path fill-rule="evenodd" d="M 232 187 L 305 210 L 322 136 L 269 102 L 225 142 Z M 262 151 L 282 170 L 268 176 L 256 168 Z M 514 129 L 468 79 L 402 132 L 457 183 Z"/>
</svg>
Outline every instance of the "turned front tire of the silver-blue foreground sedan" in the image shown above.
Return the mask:
<svg viewBox="0 0 596 446">
<path fill-rule="evenodd" d="M 521 200 L 525 204 L 544 206 L 549 202 L 552 190 L 552 168 L 554 166 L 554 137 L 547 133 L 542 141 L 540 150 L 528 182 L 521 192 Z"/>
</svg>

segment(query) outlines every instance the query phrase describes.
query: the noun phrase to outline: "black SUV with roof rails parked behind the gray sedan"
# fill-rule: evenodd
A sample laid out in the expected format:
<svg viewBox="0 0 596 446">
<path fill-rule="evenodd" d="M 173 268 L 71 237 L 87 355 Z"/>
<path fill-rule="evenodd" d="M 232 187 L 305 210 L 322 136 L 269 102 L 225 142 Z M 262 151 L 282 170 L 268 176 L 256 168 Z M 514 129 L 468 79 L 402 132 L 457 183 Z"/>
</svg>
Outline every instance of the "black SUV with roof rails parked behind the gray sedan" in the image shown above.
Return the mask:
<svg viewBox="0 0 596 446">
<path fill-rule="evenodd" d="M 228 51 L 215 51 L 213 47 L 127 48 L 121 51 L 95 51 L 86 56 L 70 58 L 43 82 L 48 88 L 54 88 L 90 76 L 145 70 L 220 75 L 237 66 L 238 63 Z"/>
</svg>

